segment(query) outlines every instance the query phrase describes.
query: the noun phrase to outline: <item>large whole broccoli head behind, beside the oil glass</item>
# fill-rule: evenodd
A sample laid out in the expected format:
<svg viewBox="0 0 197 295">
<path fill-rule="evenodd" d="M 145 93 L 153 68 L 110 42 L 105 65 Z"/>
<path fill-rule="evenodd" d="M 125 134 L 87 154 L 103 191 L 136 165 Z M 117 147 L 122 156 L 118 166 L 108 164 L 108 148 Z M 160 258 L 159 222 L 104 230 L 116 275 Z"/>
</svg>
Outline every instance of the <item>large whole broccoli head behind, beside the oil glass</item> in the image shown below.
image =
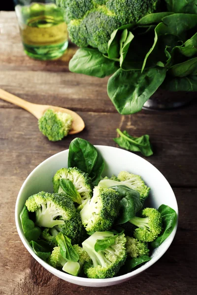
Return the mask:
<svg viewBox="0 0 197 295">
<path fill-rule="evenodd" d="M 106 53 L 111 33 L 157 11 L 160 0 L 56 0 L 64 8 L 72 42 Z"/>
</svg>

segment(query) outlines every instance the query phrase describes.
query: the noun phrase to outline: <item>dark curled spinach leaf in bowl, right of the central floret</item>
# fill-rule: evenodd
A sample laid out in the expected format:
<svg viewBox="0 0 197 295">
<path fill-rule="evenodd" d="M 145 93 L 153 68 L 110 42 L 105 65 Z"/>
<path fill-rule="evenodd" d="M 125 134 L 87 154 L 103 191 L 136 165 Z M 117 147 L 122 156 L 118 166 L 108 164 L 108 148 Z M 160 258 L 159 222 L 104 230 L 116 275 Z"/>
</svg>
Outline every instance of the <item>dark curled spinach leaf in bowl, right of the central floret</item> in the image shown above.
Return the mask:
<svg viewBox="0 0 197 295">
<path fill-rule="evenodd" d="M 140 194 L 126 185 L 116 185 L 111 188 L 118 192 L 122 198 L 120 201 L 121 207 L 116 224 L 126 223 L 142 208 Z"/>
</svg>

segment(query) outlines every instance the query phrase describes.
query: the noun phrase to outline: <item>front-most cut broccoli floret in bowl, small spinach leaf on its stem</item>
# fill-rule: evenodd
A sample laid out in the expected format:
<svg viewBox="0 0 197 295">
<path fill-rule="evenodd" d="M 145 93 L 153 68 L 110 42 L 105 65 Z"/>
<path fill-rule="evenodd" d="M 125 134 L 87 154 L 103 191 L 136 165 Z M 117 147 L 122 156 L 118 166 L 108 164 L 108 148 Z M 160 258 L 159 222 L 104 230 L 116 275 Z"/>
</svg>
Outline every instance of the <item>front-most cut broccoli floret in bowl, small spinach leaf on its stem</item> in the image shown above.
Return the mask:
<svg viewBox="0 0 197 295">
<path fill-rule="evenodd" d="M 95 250 L 97 240 L 104 238 L 113 238 L 115 234 L 110 232 L 96 232 L 83 243 L 83 249 L 90 256 L 92 263 L 86 262 L 84 272 L 88 278 L 104 279 L 111 278 L 117 274 L 120 267 L 123 266 L 127 258 L 126 253 L 126 237 L 124 234 L 116 235 L 112 240 L 112 244 L 99 252 Z"/>
</svg>

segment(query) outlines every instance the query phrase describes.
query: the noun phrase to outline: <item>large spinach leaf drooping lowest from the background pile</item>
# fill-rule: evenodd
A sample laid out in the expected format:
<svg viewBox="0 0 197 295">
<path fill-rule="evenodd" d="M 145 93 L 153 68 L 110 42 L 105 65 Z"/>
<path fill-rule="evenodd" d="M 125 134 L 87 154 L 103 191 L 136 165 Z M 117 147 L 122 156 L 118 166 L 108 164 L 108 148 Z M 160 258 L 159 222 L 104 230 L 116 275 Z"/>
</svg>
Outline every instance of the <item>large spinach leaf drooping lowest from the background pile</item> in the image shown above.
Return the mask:
<svg viewBox="0 0 197 295">
<path fill-rule="evenodd" d="M 108 80 L 107 92 L 122 115 L 139 112 L 165 79 L 165 68 L 140 71 L 117 70 Z"/>
</svg>

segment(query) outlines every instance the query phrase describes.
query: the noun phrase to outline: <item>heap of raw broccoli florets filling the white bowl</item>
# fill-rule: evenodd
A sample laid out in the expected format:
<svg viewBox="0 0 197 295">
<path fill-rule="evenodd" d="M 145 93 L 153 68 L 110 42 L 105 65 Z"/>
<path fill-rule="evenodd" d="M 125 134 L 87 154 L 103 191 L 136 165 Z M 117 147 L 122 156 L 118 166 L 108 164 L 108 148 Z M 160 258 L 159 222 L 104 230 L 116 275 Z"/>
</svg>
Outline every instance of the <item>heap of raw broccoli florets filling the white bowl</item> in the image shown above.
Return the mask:
<svg viewBox="0 0 197 295">
<path fill-rule="evenodd" d="M 31 230 L 39 232 L 34 238 L 36 253 L 51 266 L 75 276 L 110 278 L 126 261 L 149 255 L 148 242 L 161 233 L 162 217 L 155 208 L 139 211 L 150 191 L 141 177 L 122 171 L 118 177 L 104 177 L 93 188 L 87 173 L 62 168 L 53 177 L 53 187 L 54 193 L 29 197 L 23 209 L 31 215 L 28 222 L 34 222 L 27 236 L 30 240 Z M 138 198 L 136 216 L 124 224 L 118 222 L 123 214 L 121 189 L 129 192 L 127 199 L 133 198 L 133 192 Z M 26 234 L 27 222 L 21 221 Z M 129 228 L 127 236 L 124 226 Z M 50 250 L 44 250 L 43 243 Z"/>
</svg>

